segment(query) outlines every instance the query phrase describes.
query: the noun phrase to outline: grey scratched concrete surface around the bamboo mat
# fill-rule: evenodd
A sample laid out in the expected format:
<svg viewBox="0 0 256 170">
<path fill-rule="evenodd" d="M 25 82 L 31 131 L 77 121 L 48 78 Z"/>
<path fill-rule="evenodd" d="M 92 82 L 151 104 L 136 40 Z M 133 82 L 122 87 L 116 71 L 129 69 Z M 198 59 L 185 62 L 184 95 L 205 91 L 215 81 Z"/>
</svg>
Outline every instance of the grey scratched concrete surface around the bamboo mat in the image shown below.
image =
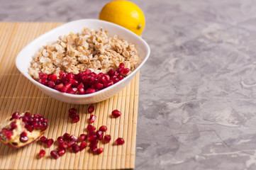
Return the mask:
<svg viewBox="0 0 256 170">
<path fill-rule="evenodd" d="M 0 21 L 98 18 L 108 1 L 0 0 Z M 133 1 L 140 72 L 135 169 L 256 169 L 256 1 Z"/>
</svg>

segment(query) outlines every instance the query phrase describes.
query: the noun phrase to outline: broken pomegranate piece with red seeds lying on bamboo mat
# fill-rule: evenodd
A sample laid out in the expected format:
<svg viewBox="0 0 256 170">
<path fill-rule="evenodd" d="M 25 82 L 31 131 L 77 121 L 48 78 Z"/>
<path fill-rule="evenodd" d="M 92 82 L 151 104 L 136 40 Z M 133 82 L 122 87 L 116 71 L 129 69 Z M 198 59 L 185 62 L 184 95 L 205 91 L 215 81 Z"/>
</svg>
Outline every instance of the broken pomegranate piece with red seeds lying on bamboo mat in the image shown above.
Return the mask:
<svg viewBox="0 0 256 170">
<path fill-rule="evenodd" d="M 0 142 L 15 149 L 29 145 L 37 140 L 45 132 L 48 123 L 42 115 L 26 113 L 13 113 L 0 125 Z M 46 139 L 47 140 L 47 139 Z M 44 137 L 41 142 L 44 141 Z"/>
</svg>

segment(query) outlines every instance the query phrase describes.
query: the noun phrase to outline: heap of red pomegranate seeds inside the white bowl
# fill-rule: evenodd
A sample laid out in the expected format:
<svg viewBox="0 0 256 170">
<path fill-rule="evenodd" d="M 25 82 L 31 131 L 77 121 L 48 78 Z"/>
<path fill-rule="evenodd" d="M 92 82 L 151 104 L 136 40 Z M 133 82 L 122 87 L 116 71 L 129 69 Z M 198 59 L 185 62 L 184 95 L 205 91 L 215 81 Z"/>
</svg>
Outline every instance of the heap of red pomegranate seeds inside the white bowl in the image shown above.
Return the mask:
<svg viewBox="0 0 256 170">
<path fill-rule="evenodd" d="M 40 72 L 38 82 L 67 94 L 92 94 L 121 81 L 128 72 L 130 69 L 124 68 L 124 64 L 121 63 L 116 70 L 110 69 L 107 74 L 96 74 L 90 69 L 79 74 L 60 72 L 59 77 Z"/>
</svg>

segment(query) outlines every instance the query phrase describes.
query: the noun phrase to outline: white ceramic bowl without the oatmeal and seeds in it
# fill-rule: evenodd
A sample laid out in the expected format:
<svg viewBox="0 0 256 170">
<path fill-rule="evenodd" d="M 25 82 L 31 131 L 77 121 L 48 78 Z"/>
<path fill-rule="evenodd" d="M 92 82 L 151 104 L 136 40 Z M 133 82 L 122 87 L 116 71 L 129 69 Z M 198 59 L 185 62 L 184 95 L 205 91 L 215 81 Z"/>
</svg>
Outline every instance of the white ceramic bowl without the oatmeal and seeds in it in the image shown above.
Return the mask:
<svg viewBox="0 0 256 170">
<path fill-rule="evenodd" d="M 106 89 L 97 91 L 94 94 L 76 95 L 61 93 L 60 91 L 50 89 L 48 86 L 44 86 L 43 84 L 38 83 L 38 81 L 35 81 L 32 77 L 30 77 L 28 74 L 28 68 L 30 67 L 30 62 L 35 52 L 38 52 L 38 50 L 48 42 L 54 42 L 58 40 L 60 35 L 68 35 L 70 32 L 81 33 L 84 27 L 92 28 L 95 30 L 99 30 L 99 28 L 102 27 L 108 31 L 109 36 L 118 35 L 119 38 L 123 38 L 124 40 L 135 44 L 135 47 L 138 50 L 138 56 L 140 57 L 140 65 L 125 79 L 119 81 L 116 84 L 113 84 L 112 86 L 109 86 Z M 48 96 L 67 103 L 89 104 L 104 101 L 118 93 L 118 91 L 121 91 L 121 89 L 123 89 L 126 84 L 128 84 L 133 79 L 140 67 L 145 64 L 149 55 L 150 47 L 148 46 L 147 42 L 145 42 L 145 40 L 140 38 L 138 35 L 135 35 L 135 33 L 131 32 L 130 30 L 106 21 L 100 21 L 96 19 L 82 19 L 65 23 L 62 26 L 50 30 L 48 33 L 40 35 L 40 37 L 30 42 L 26 47 L 23 48 L 23 50 L 21 50 L 20 53 L 18 53 L 18 56 L 16 57 L 16 67 L 25 77 L 27 77 L 33 84 L 35 84 L 38 89 L 43 91 Z"/>
</svg>

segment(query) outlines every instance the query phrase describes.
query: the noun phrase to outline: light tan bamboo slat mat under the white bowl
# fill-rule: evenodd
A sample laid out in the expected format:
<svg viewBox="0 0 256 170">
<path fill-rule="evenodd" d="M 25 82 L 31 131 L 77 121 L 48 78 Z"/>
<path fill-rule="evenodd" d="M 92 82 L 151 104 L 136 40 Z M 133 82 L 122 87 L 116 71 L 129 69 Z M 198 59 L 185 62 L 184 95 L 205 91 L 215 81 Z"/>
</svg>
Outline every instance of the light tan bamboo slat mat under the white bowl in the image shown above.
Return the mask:
<svg viewBox="0 0 256 170">
<path fill-rule="evenodd" d="M 45 115 L 49 128 L 45 136 L 56 140 L 65 132 L 79 135 L 90 114 L 89 105 L 74 105 L 57 101 L 43 94 L 15 66 L 18 52 L 28 42 L 39 35 L 60 26 L 62 23 L 1 23 L 0 22 L 0 121 L 3 122 L 15 111 L 31 111 Z M 21 149 L 11 149 L 0 144 L 0 169 L 133 169 L 135 165 L 136 125 L 138 115 L 139 73 L 116 96 L 100 103 L 94 103 L 96 128 L 106 125 L 106 134 L 111 135 L 111 142 L 99 147 L 104 152 L 99 155 L 89 153 L 89 148 L 74 154 L 67 152 L 64 156 L 52 159 L 50 151 L 56 145 L 45 148 L 38 142 Z M 80 121 L 71 123 L 68 118 L 69 108 L 77 108 Z M 111 118 L 111 111 L 118 109 L 123 113 L 119 118 Z M 87 134 L 87 133 L 86 133 Z M 113 141 L 123 137 L 124 145 L 113 146 Z M 40 149 L 46 154 L 42 159 L 36 156 Z"/>
</svg>

